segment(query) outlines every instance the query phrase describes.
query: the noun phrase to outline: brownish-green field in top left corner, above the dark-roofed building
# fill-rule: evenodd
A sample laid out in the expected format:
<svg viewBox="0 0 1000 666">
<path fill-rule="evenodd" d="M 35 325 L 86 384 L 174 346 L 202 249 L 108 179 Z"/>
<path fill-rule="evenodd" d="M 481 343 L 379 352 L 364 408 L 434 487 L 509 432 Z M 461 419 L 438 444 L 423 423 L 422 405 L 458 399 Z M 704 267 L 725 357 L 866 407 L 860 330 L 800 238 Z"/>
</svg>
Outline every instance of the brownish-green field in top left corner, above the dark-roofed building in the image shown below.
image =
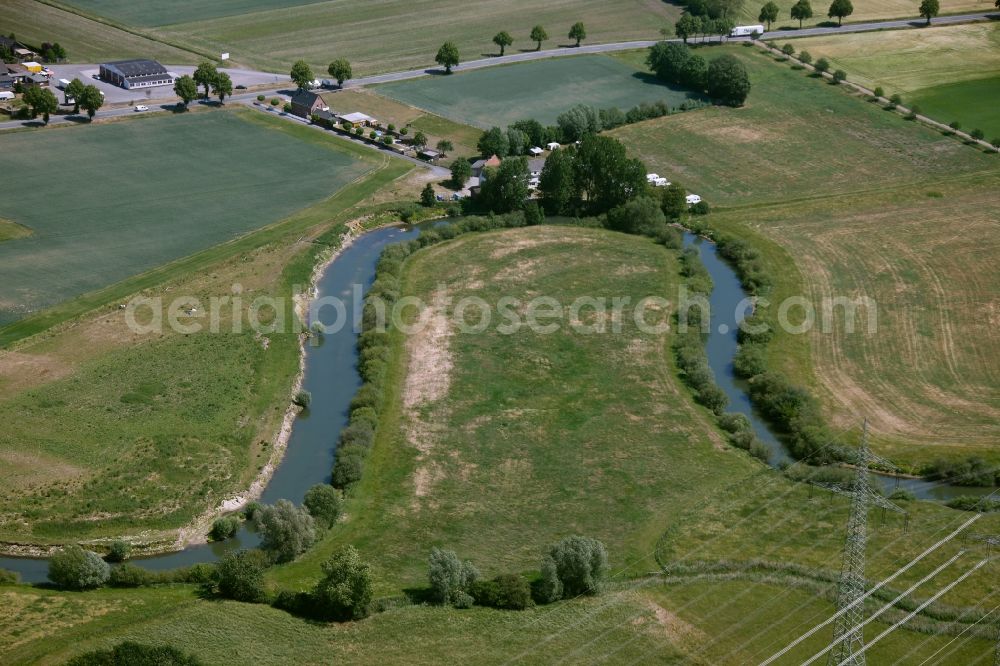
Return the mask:
<svg viewBox="0 0 1000 666">
<path fill-rule="evenodd" d="M 105 62 L 124 58 L 155 58 L 171 65 L 191 65 L 200 56 L 186 49 L 133 34 L 113 25 L 80 16 L 38 0 L 0 3 L 4 35 L 40 45 L 59 42 L 71 62 Z"/>
</svg>

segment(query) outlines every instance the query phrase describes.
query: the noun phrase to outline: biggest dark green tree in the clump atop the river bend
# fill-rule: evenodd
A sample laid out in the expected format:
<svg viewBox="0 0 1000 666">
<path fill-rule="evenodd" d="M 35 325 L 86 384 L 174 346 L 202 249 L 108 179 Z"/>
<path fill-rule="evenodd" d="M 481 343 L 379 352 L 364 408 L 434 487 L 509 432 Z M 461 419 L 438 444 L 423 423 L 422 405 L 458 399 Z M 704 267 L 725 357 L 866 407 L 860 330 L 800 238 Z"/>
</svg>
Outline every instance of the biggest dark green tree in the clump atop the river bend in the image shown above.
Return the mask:
<svg viewBox="0 0 1000 666">
<path fill-rule="evenodd" d="M 573 167 L 577 198 L 586 200 L 595 215 L 624 204 L 646 187 L 646 167 L 629 158 L 625 146 L 609 136 L 585 136 Z"/>
</svg>

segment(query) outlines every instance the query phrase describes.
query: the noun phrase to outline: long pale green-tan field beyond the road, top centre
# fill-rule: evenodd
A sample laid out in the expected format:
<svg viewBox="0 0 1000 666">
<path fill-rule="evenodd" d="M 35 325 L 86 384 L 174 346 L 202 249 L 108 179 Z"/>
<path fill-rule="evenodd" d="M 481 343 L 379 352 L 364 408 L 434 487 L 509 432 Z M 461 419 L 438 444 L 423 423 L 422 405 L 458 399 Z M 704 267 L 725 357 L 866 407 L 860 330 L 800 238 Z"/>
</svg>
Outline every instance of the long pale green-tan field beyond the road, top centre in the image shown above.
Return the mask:
<svg viewBox="0 0 1000 666">
<path fill-rule="evenodd" d="M 226 0 L 221 3 L 72 1 L 81 11 L 130 25 L 156 39 L 209 53 L 232 53 L 235 66 L 285 72 L 303 58 L 319 70 L 336 57 L 354 65 L 355 75 L 426 67 L 446 40 L 464 60 L 495 52 L 493 35 L 507 30 L 513 49 L 534 49 L 528 39 L 534 25 L 544 25 L 548 48 L 569 44 L 576 21 L 587 25 L 588 41 L 612 42 L 655 38 L 680 15 L 674 5 L 650 0 L 607 3 L 599 0 L 528 0 L 479 3 L 475 11 L 458 0 L 420 4 L 389 0 Z M 169 6 L 169 10 L 167 7 Z"/>
</svg>

